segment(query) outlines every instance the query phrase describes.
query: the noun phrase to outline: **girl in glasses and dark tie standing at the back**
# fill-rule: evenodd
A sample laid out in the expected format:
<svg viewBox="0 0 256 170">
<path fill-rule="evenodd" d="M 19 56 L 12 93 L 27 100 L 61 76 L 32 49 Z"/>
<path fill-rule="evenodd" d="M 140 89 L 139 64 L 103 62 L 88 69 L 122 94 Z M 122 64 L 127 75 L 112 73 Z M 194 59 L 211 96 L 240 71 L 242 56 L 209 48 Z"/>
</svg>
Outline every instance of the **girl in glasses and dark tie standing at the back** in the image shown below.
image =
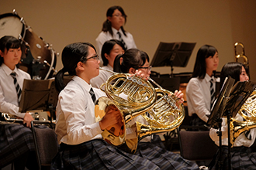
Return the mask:
<svg viewBox="0 0 256 170">
<path fill-rule="evenodd" d="M 137 48 L 133 35 L 127 32 L 123 26 L 126 23 L 126 13 L 121 6 L 112 6 L 106 12 L 106 21 L 103 22 L 102 32 L 96 38 L 99 53 L 104 42 L 110 39 L 119 39 L 125 49 Z"/>
</svg>

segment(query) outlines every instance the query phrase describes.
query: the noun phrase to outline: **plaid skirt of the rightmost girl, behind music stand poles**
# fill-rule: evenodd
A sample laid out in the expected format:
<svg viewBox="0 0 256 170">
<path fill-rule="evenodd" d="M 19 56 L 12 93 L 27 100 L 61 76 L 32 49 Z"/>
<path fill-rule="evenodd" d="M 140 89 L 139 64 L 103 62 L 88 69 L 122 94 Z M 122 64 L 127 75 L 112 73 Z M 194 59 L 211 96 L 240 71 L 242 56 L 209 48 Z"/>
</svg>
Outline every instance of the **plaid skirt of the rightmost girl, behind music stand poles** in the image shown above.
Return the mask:
<svg viewBox="0 0 256 170">
<path fill-rule="evenodd" d="M 227 146 L 223 146 L 222 148 L 223 154 L 216 156 L 215 164 L 213 165 L 213 170 L 219 169 L 219 158 L 223 163 L 222 169 L 228 169 L 228 148 Z M 247 147 L 234 147 L 230 150 L 231 155 L 231 169 L 232 170 L 251 170 L 256 169 L 256 153 L 251 152 L 251 148 Z"/>
</svg>

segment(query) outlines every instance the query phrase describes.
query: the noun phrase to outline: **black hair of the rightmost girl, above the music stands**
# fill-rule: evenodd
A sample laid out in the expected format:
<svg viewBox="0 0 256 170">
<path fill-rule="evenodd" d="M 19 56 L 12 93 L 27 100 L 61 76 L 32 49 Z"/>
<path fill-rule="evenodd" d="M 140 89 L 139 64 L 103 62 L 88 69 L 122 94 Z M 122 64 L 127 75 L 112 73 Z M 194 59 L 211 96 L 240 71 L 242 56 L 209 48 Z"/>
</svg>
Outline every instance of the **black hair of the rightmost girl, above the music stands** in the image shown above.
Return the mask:
<svg viewBox="0 0 256 170">
<path fill-rule="evenodd" d="M 222 70 L 220 72 L 220 87 L 223 86 L 224 80 L 228 76 L 233 78 L 235 80 L 235 83 L 237 83 L 237 81 L 240 81 L 240 73 L 242 73 L 242 66 L 244 66 L 244 64 L 238 62 L 226 63 L 222 67 Z M 245 71 L 247 73 L 247 70 Z"/>
</svg>

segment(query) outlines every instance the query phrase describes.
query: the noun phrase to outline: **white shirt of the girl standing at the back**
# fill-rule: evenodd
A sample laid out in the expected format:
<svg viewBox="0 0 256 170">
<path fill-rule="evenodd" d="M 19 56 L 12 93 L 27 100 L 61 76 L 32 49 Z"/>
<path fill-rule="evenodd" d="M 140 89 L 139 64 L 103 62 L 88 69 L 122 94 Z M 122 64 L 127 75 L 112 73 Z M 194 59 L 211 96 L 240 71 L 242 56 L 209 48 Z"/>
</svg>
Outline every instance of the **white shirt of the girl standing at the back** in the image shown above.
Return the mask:
<svg viewBox="0 0 256 170">
<path fill-rule="evenodd" d="M 111 36 L 111 34 L 109 32 L 100 32 L 99 36 L 96 38 L 96 44 L 97 44 L 97 48 L 98 48 L 97 51 L 98 51 L 100 58 L 102 58 L 101 52 L 102 52 L 102 46 L 103 46 L 104 42 L 106 42 L 110 39 L 120 40 L 117 32 L 120 32 L 123 41 L 126 43 L 127 49 L 132 49 L 132 48 L 137 49 L 137 46 L 133 39 L 133 35 L 131 35 L 130 32 L 126 32 L 126 36 L 124 36 L 122 29 L 116 30 L 116 29 L 112 28 L 112 32 L 113 32 L 113 36 Z M 101 61 L 102 61 L 102 59 L 101 59 Z"/>
</svg>

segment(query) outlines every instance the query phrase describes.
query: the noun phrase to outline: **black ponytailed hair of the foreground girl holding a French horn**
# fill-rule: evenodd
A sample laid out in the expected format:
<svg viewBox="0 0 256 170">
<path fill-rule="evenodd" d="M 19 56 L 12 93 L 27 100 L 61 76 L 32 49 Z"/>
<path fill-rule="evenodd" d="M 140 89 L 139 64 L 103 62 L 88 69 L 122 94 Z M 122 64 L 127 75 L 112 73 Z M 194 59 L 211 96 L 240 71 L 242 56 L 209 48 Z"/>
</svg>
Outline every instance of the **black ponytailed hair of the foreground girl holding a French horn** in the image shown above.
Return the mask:
<svg viewBox="0 0 256 170">
<path fill-rule="evenodd" d="M 63 68 L 56 74 L 55 87 L 60 92 L 64 89 L 64 73 L 68 73 L 69 76 L 75 76 L 78 63 L 86 63 L 86 57 L 88 56 L 88 46 L 93 49 L 95 47 L 89 42 L 75 42 L 64 47 L 61 54 Z M 95 49 L 96 52 L 96 49 Z"/>
</svg>

